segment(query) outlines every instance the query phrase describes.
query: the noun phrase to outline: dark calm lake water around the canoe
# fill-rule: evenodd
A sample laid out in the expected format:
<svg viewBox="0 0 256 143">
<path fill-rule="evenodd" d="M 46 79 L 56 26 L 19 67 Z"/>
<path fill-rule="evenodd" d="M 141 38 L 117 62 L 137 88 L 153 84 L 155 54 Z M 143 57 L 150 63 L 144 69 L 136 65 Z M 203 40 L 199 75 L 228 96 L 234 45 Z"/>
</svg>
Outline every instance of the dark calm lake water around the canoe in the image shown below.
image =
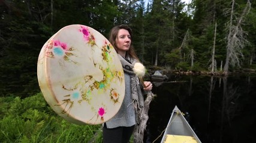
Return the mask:
<svg viewBox="0 0 256 143">
<path fill-rule="evenodd" d="M 255 76 L 173 76 L 154 86 L 153 93 L 158 97 L 150 104 L 144 142 L 161 135 L 175 105 L 186 114 L 201 142 L 256 140 Z M 155 142 L 161 139 L 162 135 Z"/>
</svg>

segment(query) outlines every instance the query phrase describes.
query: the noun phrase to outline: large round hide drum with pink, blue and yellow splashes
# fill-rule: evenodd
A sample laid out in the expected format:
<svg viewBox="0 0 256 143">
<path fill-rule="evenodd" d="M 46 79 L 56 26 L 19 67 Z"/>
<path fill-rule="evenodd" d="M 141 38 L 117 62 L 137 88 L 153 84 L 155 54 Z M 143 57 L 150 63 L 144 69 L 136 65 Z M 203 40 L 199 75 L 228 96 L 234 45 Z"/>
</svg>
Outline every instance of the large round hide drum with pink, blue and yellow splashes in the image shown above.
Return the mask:
<svg viewBox="0 0 256 143">
<path fill-rule="evenodd" d="M 81 24 L 63 27 L 44 43 L 37 76 L 50 107 L 79 125 L 106 122 L 124 100 L 124 70 L 115 49 Z"/>
</svg>

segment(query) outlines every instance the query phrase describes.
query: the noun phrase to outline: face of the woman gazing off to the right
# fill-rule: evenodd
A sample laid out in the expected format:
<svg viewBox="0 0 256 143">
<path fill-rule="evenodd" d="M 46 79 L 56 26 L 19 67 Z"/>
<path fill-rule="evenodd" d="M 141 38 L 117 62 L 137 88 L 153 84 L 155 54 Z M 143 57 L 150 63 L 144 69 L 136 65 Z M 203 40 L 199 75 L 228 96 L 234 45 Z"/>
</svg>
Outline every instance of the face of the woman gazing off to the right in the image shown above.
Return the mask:
<svg viewBox="0 0 256 143">
<path fill-rule="evenodd" d="M 130 46 L 131 35 L 129 35 L 128 30 L 120 29 L 116 38 L 116 48 L 118 48 L 118 53 L 124 57 L 125 52 L 129 50 Z"/>
</svg>

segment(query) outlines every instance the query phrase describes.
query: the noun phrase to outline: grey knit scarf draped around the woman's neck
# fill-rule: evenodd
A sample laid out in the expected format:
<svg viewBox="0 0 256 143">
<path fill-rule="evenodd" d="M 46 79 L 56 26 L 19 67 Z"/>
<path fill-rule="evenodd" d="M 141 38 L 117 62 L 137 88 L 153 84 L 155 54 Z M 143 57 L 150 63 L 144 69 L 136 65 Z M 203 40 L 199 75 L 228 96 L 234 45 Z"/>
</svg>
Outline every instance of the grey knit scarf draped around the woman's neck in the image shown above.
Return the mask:
<svg viewBox="0 0 256 143">
<path fill-rule="evenodd" d="M 140 80 L 132 70 L 134 64 L 137 63 L 137 60 L 129 56 L 127 56 L 127 58 L 124 58 L 119 54 L 118 57 L 122 63 L 124 72 L 129 74 L 131 77 L 131 97 L 135 108 L 137 124 L 140 125 L 141 121 L 143 120 L 144 114 L 144 98 L 141 92 Z"/>
</svg>

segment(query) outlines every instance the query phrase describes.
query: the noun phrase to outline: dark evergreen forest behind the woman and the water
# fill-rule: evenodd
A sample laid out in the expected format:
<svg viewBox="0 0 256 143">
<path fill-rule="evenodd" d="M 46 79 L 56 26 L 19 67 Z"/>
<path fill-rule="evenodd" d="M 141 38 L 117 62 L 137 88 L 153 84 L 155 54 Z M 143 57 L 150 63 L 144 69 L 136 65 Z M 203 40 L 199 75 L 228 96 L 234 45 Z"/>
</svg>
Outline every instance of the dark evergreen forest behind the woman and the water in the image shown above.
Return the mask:
<svg viewBox="0 0 256 143">
<path fill-rule="evenodd" d="M 113 26 L 128 24 L 147 69 L 225 74 L 256 69 L 255 5 L 249 0 L 1 0 L 1 97 L 40 92 L 40 50 L 70 24 L 92 27 L 106 38 Z"/>
</svg>

